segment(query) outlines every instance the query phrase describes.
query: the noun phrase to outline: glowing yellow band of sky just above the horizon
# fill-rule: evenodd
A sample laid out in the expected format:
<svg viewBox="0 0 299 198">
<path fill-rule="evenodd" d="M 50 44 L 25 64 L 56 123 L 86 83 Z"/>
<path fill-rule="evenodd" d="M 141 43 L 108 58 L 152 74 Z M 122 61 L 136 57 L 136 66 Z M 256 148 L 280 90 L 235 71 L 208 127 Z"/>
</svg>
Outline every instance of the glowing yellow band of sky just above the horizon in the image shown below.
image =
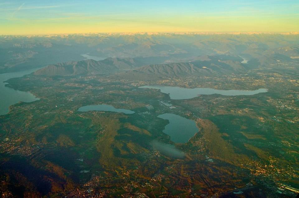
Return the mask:
<svg viewBox="0 0 299 198">
<path fill-rule="evenodd" d="M 181 20 L 165 23 L 142 22 L 18 22 L 0 25 L 1 35 L 62 34 L 62 33 L 96 33 L 96 32 L 296 32 L 299 23 L 295 20 L 253 21 L 250 19 L 199 19 Z M 30 27 L 30 28 L 28 28 Z"/>
</svg>

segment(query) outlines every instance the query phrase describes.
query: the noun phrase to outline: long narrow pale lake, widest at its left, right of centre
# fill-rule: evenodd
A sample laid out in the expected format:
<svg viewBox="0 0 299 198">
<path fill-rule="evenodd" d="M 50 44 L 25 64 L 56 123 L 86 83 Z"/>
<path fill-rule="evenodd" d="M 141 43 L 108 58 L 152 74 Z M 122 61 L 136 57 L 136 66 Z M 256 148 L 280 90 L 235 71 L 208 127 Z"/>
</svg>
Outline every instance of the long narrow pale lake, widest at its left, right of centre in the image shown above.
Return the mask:
<svg viewBox="0 0 299 198">
<path fill-rule="evenodd" d="M 211 94 L 221 94 L 228 96 L 236 95 L 254 95 L 263 92 L 267 92 L 267 89 L 257 89 L 257 90 L 217 90 L 211 88 L 182 88 L 182 87 L 172 87 L 172 86 L 161 86 L 161 85 L 149 85 L 141 86 L 139 88 L 150 88 L 150 89 L 160 89 L 162 93 L 169 94 L 171 99 L 191 99 L 195 98 L 198 95 L 211 95 Z"/>
</svg>

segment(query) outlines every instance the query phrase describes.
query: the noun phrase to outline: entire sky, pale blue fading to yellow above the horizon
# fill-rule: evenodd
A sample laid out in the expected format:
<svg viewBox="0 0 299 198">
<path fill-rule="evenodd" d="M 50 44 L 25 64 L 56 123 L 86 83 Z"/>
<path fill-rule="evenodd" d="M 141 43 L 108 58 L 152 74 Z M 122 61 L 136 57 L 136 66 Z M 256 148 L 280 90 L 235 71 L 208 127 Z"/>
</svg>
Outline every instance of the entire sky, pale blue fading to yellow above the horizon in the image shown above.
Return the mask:
<svg viewBox="0 0 299 198">
<path fill-rule="evenodd" d="M 294 31 L 299 0 L 0 0 L 0 35 Z"/>
</svg>

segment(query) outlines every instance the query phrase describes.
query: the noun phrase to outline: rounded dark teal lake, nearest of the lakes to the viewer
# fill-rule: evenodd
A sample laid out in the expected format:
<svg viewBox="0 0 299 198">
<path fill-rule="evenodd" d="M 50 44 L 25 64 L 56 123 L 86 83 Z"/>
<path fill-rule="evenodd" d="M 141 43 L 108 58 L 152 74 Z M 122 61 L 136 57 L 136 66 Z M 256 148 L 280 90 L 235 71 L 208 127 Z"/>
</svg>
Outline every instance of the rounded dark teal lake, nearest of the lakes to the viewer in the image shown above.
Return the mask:
<svg viewBox="0 0 299 198">
<path fill-rule="evenodd" d="M 195 121 L 179 115 L 164 113 L 159 115 L 158 118 L 169 120 L 169 124 L 165 126 L 163 133 L 169 135 L 171 141 L 175 143 L 186 143 L 198 132 Z"/>
</svg>

